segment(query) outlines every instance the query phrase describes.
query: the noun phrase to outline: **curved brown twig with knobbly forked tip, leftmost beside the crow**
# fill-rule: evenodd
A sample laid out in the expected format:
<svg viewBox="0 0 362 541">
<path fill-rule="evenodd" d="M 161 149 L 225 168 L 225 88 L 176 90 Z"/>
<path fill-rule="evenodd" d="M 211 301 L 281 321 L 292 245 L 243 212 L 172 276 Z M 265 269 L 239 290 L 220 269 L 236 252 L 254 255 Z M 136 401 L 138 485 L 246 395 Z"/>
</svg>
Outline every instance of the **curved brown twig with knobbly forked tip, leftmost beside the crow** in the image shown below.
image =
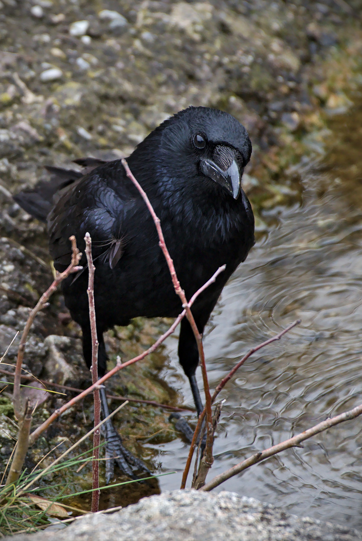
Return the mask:
<svg viewBox="0 0 362 541">
<path fill-rule="evenodd" d="M 25 344 L 27 342 L 28 334 L 30 331 L 30 327 L 34 322 L 35 316 L 42 308 L 44 308 L 47 305 L 47 302 L 50 298 L 50 296 L 56 291 L 56 288 L 58 285 L 65 279 L 69 274 L 80 271 L 82 267 L 78 266 L 78 263 L 81 259 L 81 253 L 79 252 L 75 236 L 71 236 L 71 249 L 72 249 L 72 256 L 71 256 L 71 263 L 67 269 L 65 269 L 64 272 L 59 273 L 55 280 L 52 282 L 51 286 L 43 293 L 41 298 L 38 300 L 37 305 L 35 308 L 32 309 L 32 311 L 29 314 L 29 318 L 27 321 L 27 324 L 25 325 L 20 344 L 18 349 L 18 356 L 16 361 L 16 368 L 15 368 L 15 377 L 14 377 L 14 395 L 13 395 L 13 402 L 14 402 L 14 414 L 15 417 L 18 420 L 22 419 L 23 411 L 21 406 L 21 395 L 20 395 L 20 376 L 21 376 L 21 366 L 24 358 L 24 349 Z"/>
</svg>

